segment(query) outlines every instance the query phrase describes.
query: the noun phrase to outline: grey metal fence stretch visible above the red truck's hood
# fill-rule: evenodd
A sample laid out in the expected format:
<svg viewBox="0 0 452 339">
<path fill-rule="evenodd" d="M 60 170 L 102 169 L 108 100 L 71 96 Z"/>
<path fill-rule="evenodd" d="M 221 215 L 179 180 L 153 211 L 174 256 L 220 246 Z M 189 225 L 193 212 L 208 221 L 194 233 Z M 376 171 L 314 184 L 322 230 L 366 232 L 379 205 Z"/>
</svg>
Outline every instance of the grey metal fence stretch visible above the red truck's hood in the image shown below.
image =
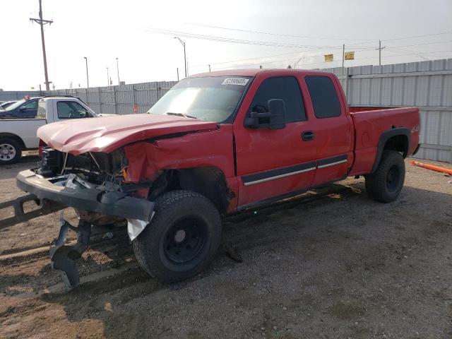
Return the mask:
<svg viewBox="0 0 452 339">
<path fill-rule="evenodd" d="M 177 81 L 135 83 L 95 88 L 73 88 L 71 90 L 51 90 L 50 95 L 73 95 L 80 97 L 95 112 L 104 114 L 145 113 Z"/>
</svg>

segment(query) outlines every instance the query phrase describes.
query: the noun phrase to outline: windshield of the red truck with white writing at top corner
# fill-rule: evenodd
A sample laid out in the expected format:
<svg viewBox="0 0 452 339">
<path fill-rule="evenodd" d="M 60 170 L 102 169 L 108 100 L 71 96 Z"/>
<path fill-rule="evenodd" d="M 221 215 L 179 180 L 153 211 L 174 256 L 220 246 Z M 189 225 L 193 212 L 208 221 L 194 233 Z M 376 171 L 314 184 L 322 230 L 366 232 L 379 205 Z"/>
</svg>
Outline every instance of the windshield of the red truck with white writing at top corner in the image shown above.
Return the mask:
<svg viewBox="0 0 452 339">
<path fill-rule="evenodd" d="M 250 83 L 251 78 L 237 76 L 184 79 L 158 100 L 148 113 L 229 121 Z"/>
</svg>

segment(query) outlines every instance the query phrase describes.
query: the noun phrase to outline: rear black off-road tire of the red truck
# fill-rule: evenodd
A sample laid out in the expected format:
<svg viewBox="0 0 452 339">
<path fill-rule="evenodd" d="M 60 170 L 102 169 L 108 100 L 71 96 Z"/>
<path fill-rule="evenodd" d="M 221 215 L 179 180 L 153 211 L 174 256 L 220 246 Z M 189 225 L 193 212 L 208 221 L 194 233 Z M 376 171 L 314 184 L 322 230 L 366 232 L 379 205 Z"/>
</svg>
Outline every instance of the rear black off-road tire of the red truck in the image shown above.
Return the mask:
<svg viewBox="0 0 452 339">
<path fill-rule="evenodd" d="M 405 162 L 396 150 L 383 150 L 379 167 L 364 176 L 369 198 L 381 203 L 395 201 L 405 181 Z"/>
</svg>

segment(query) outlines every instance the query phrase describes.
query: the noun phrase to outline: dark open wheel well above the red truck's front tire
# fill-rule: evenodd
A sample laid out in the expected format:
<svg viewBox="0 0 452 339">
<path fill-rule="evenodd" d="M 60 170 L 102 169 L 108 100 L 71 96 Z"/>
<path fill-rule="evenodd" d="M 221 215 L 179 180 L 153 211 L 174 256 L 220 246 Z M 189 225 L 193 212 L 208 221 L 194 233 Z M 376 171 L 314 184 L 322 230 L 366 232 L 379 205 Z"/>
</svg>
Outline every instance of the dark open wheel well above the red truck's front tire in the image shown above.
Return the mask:
<svg viewBox="0 0 452 339">
<path fill-rule="evenodd" d="M 149 198 L 166 191 L 187 189 L 209 198 L 220 213 L 225 213 L 231 199 L 225 174 L 217 167 L 168 169 L 158 177 L 150 189 Z"/>
</svg>

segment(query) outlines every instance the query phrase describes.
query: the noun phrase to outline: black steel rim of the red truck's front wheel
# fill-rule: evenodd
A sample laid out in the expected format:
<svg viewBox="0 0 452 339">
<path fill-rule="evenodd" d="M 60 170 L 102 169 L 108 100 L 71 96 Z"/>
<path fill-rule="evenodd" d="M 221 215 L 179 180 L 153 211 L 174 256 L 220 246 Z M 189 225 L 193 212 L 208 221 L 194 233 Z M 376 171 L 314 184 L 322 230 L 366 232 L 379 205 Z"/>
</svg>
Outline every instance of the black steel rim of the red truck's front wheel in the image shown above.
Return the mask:
<svg viewBox="0 0 452 339">
<path fill-rule="evenodd" d="M 174 263 L 184 264 L 192 261 L 206 244 L 206 222 L 196 217 L 179 220 L 165 234 L 163 251 Z"/>
</svg>

